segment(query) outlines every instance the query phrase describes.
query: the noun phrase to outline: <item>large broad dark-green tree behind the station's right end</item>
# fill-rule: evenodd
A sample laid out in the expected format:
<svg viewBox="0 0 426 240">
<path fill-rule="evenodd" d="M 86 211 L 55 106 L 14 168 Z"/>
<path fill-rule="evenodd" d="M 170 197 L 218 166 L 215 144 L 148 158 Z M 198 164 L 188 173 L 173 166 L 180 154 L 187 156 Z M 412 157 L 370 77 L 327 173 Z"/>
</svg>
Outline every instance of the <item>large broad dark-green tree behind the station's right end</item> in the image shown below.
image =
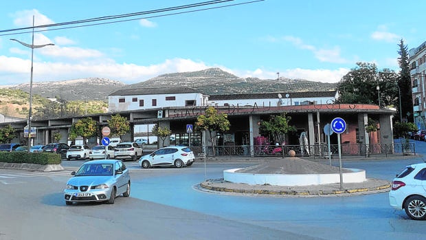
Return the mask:
<svg viewBox="0 0 426 240">
<path fill-rule="evenodd" d="M 396 81 L 398 75 L 390 69 L 380 72 L 374 63 L 357 63 L 358 67 L 351 69 L 343 76 L 338 84 L 339 99 L 337 103 L 361 103 L 389 106 L 398 102 Z M 390 87 L 393 86 L 393 87 Z"/>
</svg>

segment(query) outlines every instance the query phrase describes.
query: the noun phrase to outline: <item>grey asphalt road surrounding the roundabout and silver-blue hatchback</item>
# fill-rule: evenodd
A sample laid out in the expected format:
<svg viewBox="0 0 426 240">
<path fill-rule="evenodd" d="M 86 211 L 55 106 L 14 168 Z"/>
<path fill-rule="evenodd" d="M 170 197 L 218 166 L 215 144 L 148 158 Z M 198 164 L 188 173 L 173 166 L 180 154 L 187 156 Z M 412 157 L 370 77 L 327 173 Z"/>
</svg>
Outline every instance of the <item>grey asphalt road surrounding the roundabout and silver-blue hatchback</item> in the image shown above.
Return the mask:
<svg viewBox="0 0 426 240">
<path fill-rule="evenodd" d="M 367 177 L 392 180 L 414 158 L 344 160 Z M 256 162 L 196 162 L 187 168 L 131 170 L 131 197 L 114 205 L 65 206 L 63 188 L 82 161 L 65 171 L 0 169 L 0 240 L 3 239 L 424 239 L 425 221 L 390 208 L 388 193 L 350 197 L 276 197 L 205 193 L 196 186 L 227 168 Z M 337 164 L 337 160 L 333 162 Z M 206 166 L 206 168 L 205 168 Z"/>
</svg>

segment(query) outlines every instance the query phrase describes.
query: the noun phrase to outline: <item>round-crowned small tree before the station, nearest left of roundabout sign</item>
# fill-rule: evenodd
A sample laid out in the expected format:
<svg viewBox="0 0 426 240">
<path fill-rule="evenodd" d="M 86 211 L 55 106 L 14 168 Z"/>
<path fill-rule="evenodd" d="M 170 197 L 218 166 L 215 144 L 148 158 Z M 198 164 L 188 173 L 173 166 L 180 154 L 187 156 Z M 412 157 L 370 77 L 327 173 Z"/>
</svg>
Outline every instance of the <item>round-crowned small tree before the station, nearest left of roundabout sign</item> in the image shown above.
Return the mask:
<svg viewBox="0 0 426 240">
<path fill-rule="evenodd" d="M 285 140 L 285 134 L 290 131 L 296 131 L 294 126 L 289 125 L 291 117 L 281 113 L 278 116 L 271 116 L 268 121 L 260 121 L 259 133 L 265 136 L 271 136 L 276 142 L 282 143 Z"/>
</svg>

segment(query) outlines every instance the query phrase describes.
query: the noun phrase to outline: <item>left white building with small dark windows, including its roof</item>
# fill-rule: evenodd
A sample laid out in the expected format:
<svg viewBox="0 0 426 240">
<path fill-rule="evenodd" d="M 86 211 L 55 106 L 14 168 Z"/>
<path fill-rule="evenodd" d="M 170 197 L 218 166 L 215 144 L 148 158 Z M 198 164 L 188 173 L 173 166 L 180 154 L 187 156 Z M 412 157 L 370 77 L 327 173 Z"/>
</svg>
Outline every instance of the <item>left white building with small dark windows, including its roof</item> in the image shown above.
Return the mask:
<svg viewBox="0 0 426 240">
<path fill-rule="evenodd" d="M 189 87 L 121 89 L 108 96 L 109 111 L 207 105 L 208 95 Z"/>
</svg>

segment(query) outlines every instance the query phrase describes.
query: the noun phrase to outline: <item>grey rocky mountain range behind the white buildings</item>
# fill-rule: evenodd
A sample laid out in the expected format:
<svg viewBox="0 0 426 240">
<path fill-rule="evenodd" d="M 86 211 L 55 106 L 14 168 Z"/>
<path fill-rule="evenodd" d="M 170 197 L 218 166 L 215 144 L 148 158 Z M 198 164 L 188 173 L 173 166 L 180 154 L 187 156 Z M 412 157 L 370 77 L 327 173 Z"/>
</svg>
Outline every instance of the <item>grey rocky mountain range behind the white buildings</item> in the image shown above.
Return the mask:
<svg viewBox="0 0 426 240">
<path fill-rule="evenodd" d="M 219 68 L 204 69 L 197 72 L 162 74 L 149 80 L 125 84 L 106 78 L 81 78 L 54 82 L 33 83 L 33 94 L 44 98 L 63 98 L 65 100 L 106 100 L 109 94 L 118 89 L 191 87 L 203 94 L 258 94 L 290 91 L 331 91 L 336 83 L 320 83 L 303 79 L 259 79 L 240 78 Z M 30 92 L 30 84 L 8 86 Z"/>
</svg>

